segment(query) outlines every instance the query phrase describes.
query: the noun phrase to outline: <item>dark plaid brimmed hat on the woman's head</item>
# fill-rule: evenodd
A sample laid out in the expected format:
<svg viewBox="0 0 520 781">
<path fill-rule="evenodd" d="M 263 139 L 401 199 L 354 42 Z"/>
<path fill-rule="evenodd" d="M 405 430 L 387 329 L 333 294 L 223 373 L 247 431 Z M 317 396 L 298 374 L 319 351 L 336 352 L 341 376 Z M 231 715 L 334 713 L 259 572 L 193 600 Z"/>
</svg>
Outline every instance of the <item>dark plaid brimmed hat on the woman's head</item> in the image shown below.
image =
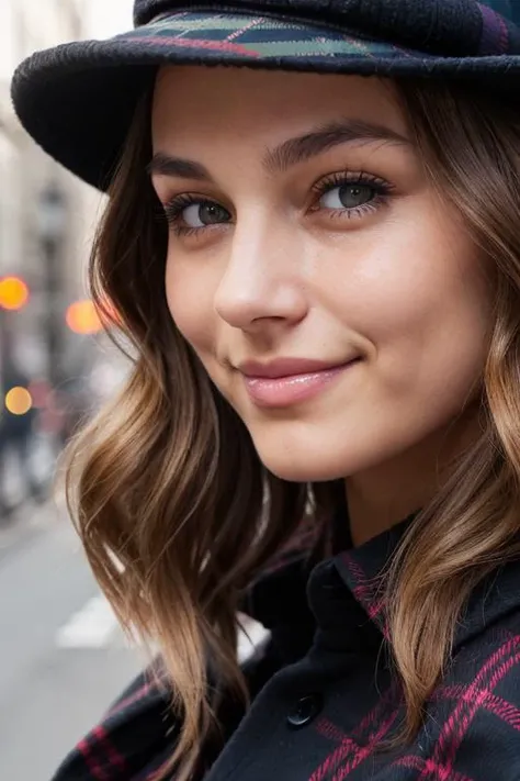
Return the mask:
<svg viewBox="0 0 520 781">
<path fill-rule="evenodd" d="M 520 87 L 520 0 L 135 0 L 134 21 L 109 41 L 37 52 L 12 81 L 25 130 L 102 190 L 168 63 Z"/>
</svg>

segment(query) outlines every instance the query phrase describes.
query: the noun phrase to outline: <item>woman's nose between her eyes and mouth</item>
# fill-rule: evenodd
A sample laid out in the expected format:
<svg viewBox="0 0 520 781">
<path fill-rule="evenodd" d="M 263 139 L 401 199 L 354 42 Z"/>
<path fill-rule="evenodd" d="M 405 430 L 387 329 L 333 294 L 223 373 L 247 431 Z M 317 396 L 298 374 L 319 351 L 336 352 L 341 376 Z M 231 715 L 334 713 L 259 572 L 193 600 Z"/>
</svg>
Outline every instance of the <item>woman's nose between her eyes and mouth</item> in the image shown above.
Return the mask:
<svg viewBox="0 0 520 781">
<path fill-rule="evenodd" d="M 237 224 L 215 309 L 235 328 L 267 321 L 297 323 L 307 312 L 303 247 L 294 231 Z"/>
</svg>

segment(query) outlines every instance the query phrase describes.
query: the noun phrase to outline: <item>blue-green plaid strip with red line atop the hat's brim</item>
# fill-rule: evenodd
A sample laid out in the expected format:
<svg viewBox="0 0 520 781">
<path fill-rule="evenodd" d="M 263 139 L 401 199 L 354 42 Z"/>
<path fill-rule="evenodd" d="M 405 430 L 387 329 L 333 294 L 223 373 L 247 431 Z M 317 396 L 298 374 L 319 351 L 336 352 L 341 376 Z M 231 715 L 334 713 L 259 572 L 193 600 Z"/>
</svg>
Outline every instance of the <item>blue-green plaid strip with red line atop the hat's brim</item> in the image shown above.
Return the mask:
<svg viewBox="0 0 520 781">
<path fill-rule="evenodd" d="M 273 16 L 245 16 L 207 12 L 162 14 L 137 27 L 125 43 L 139 41 L 145 46 L 182 46 L 225 52 L 233 57 L 403 57 L 404 49 L 384 41 L 363 40 L 359 33 L 309 27 Z M 425 55 L 421 57 L 433 55 Z"/>
</svg>

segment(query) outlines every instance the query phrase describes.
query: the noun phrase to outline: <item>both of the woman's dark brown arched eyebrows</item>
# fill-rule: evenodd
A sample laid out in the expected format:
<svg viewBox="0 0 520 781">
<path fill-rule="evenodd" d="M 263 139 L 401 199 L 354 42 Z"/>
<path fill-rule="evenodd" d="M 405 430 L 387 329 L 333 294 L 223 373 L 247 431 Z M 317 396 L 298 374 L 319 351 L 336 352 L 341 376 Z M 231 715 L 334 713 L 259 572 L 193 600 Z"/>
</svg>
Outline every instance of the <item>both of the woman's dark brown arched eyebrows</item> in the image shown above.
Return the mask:
<svg viewBox="0 0 520 781">
<path fill-rule="evenodd" d="M 398 146 L 411 147 L 409 138 L 397 131 L 382 124 L 347 120 L 321 125 L 304 135 L 284 141 L 273 149 L 268 149 L 262 159 L 262 166 L 268 174 L 283 174 L 289 168 L 339 146 L 340 144 L 381 142 Z M 202 163 L 182 157 L 172 157 L 158 152 L 146 167 L 147 172 L 156 176 L 180 177 L 212 181 L 212 176 Z"/>
</svg>

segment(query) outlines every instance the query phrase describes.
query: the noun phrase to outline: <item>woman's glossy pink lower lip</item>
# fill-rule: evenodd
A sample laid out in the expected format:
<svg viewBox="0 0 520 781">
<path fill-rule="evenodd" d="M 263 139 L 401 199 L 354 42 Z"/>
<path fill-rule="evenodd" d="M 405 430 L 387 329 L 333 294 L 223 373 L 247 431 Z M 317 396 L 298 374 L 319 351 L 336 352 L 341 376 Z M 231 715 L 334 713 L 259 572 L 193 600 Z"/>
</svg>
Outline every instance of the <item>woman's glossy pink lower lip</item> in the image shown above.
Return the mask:
<svg viewBox="0 0 520 781">
<path fill-rule="evenodd" d="M 242 376 L 246 390 L 258 406 L 290 406 L 317 395 L 357 362 L 359 359 L 279 377 Z"/>
</svg>

